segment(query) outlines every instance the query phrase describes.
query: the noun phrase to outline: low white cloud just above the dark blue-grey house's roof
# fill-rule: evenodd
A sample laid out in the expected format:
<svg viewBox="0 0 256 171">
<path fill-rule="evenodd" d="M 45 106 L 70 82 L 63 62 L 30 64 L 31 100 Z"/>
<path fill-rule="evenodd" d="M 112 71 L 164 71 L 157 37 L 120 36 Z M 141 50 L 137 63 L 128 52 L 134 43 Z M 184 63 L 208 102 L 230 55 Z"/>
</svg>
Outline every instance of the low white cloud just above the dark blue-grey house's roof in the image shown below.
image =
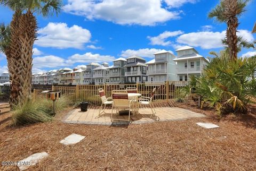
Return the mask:
<svg viewBox="0 0 256 171">
<path fill-rule="evenodd" d="M 155 57 L 154 54 L 161 51 L 161 50 L 163 50 L 163 49 L 155 49 L 155 48 L 152 48 L 152 49 L 145 48 L 145 49 L 138 49 L 138 50 L 127 49 L 127 50 L 122 51 L 121 56 L 122 57 L 129 57 L 129 56 L 132 56 L 132 55 L 138 55 L 138 56 L 141 56 L 141 57 L 153 58 L 153 57 Z M 169 52 L 173 54 L 172 51 L 169 51 Z"/>
</svg>

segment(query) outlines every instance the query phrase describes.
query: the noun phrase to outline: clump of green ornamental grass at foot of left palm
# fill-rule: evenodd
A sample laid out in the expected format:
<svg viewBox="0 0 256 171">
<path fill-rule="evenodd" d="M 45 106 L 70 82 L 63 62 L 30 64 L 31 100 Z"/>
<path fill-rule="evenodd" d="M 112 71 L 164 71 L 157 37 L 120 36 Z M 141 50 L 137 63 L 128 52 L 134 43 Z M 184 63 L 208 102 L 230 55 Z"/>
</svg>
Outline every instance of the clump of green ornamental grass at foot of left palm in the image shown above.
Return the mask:
<svg viewBox="0 0 256 171">
<path fill-rule="evenodd" d="M 28 125 L 51 121 L 52 116 L 42 107 L 40 102 L 28 100 L 22 106 L 14 106 L 12 119 L 14 125 Z"/>
</svg>

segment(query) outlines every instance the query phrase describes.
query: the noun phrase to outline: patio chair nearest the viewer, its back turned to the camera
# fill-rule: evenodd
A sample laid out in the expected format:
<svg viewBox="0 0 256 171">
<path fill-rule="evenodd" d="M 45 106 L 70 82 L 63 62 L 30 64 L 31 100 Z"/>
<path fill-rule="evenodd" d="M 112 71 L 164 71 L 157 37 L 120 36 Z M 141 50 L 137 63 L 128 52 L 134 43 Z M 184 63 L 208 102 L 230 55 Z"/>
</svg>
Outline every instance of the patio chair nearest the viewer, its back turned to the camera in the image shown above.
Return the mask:
<svg viewBox="0 0 256 171">
<path fill-rule="evenodd" d="M 128 93 L 126 90 L 113 90 L 112 91 L 113 105 L 111 111 L 111 122 L 113 120 L 129 121 L 132 109 L 132 100 L 128 99 Z M 116 114 L 119 113 L 119 108 L 129 108 L 128 119 L 113 119 L 113 109 L 116 108 Z"/>
</svg>

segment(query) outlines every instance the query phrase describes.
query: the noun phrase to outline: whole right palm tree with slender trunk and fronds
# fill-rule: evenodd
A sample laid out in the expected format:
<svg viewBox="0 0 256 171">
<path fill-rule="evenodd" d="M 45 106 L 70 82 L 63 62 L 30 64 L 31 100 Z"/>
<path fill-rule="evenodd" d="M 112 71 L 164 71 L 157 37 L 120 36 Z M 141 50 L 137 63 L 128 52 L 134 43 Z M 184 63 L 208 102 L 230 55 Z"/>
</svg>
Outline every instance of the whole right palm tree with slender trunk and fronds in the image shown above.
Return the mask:
<svg viewBox="0 0 256 171">
<path fill-rule="evenodd" d="M 228 43 L 228 50 L 230 59 L 237 59 L 237 42 L 236 36 L 238 27 L 238 17 L 246 10 L 245 7 L 249 0 L 221 0 L 209 14 L 209 18 L 215 18 L 219 22 L 227 23 L 226 41 Z"/>
</svg>

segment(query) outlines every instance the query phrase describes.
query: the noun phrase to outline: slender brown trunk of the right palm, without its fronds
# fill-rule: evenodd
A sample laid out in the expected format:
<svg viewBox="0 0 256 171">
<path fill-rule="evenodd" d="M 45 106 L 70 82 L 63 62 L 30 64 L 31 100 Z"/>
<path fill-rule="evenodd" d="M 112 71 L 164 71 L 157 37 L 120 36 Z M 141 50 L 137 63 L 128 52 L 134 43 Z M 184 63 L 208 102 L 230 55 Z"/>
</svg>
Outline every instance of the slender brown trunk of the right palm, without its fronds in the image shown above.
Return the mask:
<svg viewBox="0 0 256 171">
<path fill-rule="evenodd" d="M 225 15 L 227 16 L 227 33 L 228 49 L 231 60 L 237 59 L 237 27 L 238 19 L 236 16 L 237 0 L 225 0 Z"/>
</svg>

